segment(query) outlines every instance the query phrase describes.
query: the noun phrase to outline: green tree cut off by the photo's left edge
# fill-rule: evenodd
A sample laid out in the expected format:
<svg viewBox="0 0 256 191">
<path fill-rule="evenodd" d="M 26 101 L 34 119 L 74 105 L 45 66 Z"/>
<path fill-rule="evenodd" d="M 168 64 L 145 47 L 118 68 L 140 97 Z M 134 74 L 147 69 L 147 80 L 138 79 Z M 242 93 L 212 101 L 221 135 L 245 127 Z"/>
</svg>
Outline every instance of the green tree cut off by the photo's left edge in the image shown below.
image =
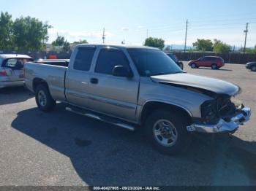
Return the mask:
<svg viewBox="0 0 256 191">
<path fill-rule="evenodd" d="M 13 48 L 12 41 L 12 15 L 1 12 L 0 15 L 0 50 Z"/>
</svg>

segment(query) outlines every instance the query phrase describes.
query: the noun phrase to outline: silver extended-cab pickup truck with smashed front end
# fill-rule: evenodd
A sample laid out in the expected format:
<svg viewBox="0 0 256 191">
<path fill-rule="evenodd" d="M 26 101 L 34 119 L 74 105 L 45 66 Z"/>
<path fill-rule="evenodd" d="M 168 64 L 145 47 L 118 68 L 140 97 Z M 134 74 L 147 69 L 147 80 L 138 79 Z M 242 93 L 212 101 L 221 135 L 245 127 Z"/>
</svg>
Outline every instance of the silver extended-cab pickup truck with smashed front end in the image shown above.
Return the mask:
<svg viewBox="0 0 256 191">
<path fill-rule="evenodd" d="M 143 127 L 154 147 L 170 155 L 189 145 L 192 132 L 233 133 L 251 115 L 233 102 L 240 87 L 187 74 L 151 47 L 80 44 L 68 67 L 26 63 L 25 82 L 43 112 L 61 101 L 69 112 Z"/>
</svg>

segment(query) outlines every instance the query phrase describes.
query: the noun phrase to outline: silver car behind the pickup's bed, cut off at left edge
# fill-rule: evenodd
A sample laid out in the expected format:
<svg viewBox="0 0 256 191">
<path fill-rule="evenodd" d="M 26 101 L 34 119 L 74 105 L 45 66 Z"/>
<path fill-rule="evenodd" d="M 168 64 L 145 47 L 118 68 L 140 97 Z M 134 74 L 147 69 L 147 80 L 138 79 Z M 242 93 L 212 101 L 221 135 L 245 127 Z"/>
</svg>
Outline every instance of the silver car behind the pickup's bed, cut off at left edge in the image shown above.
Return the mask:
<svg viewBox="0 0 256 191">
<path fill-rule="evenodd" d="M 24 84 L 24 63 L 32 60 L 28 55 L 0 55 L 0 88 L 22 86 Z"/>
</svg>

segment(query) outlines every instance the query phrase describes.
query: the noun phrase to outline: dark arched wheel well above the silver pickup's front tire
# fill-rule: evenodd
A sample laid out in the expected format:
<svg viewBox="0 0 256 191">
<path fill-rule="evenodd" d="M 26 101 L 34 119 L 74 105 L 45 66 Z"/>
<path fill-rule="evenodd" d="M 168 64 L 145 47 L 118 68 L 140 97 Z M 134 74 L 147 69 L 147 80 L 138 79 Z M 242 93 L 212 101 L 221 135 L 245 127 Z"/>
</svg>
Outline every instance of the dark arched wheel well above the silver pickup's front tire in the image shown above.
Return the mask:
<svg viewBox="0 0 256 191">
<path fill-rule="evenodd" d="M 180 114 L 184 114 L 189 122 L 192 122 L 191 116 L 189 113 L 181 108 L 180 106 L 175 106 L 173 104 L 165 104 L 158 101 L 150 101 L 145 106 L 143 106 L 143 111 L 141 112 L 140 122 L 143 124 L 146 121 L 151 112 L 156 111 L 157 109 L 169 109 L 171 111 L 179 112 Z"/>
</svg>

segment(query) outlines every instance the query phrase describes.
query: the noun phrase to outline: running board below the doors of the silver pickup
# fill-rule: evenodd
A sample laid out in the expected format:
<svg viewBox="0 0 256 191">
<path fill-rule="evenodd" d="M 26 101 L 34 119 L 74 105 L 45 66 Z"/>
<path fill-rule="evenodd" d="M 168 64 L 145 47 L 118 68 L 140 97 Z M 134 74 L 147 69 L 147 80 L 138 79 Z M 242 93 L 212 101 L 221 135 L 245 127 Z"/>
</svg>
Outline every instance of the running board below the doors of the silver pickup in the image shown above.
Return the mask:
<svg viewBox="0 0 256 191">
<path fill-rule="evenodd" d="M 108 123 L 110 123 L 112 125 L 116 125 L 120 128 L 125 128 L 125 129 L 131 130 L 131 131 L 135 130 L 134 126 L 129 125 L 129 124 L 123 122 L 122 120 L 118 120 L 118 119 L 113 118 L 113 117 L 108 117 L 108 116 L 105 116 L 103 114 L 97 114 L 96 112 L 89 112 L 86 109 L 81 109 L 81 108 L 78 108 L 76 106 L 67 106 L 66 110 L 68 112 L 73 112 L 75 114 L 80 114 L 80 115 L 83 115 L 83 116 L 86 116 L 86 117 L 91 117 L 95 120 L 100 120 L 102 122 L 108 122 Z"/>
</svg>

